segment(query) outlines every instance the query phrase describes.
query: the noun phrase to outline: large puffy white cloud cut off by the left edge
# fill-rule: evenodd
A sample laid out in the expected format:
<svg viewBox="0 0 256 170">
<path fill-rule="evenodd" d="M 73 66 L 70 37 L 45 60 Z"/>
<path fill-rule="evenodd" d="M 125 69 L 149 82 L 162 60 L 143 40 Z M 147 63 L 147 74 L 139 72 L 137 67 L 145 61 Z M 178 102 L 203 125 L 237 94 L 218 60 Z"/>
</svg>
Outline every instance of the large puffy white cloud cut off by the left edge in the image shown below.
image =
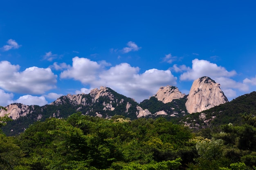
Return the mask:
<svg viewBox="0 0 256 170">
<path fill-rule="evenodd" d="M 0 62 L 0 87 L 16 93 L 43 94 L 56 88 L 56 75 L 50 68 L 29 67 L 19 72 L 20 66 Z"/>
</svg>

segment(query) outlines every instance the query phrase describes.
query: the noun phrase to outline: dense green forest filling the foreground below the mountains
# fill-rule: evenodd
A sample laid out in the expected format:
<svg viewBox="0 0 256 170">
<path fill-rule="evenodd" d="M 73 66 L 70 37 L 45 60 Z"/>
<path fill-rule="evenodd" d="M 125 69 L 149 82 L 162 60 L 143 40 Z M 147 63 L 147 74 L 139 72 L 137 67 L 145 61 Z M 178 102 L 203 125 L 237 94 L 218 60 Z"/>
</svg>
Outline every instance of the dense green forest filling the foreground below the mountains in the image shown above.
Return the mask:
<svg viewBox="0 0 256 170">
<path fill-rule="evenodd" d="M 256 117 L 192 131 L 164 117 L 74 113 L 0 133 L 1 170 L 255 170 Z M 0 126 L 10 119 L 0 118 Z"/>
</svg>

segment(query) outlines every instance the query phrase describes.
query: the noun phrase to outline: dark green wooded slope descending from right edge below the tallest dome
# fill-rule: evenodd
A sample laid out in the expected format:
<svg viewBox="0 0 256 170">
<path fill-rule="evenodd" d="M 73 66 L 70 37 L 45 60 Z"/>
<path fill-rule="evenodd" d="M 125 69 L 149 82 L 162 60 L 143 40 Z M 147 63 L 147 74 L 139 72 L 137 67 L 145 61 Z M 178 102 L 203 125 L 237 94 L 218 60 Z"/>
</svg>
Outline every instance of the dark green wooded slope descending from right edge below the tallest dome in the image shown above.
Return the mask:
<svg viewBox="0 0 256 170">
<path fill-rule="evenodd" d="M 256 92 L 245 94 L 200 113 L 180 117 L 180 122 L 192 129 L 218 127 L 222 124 L 242 125 L 243 116 L 256 115 Z"/>
</svg>

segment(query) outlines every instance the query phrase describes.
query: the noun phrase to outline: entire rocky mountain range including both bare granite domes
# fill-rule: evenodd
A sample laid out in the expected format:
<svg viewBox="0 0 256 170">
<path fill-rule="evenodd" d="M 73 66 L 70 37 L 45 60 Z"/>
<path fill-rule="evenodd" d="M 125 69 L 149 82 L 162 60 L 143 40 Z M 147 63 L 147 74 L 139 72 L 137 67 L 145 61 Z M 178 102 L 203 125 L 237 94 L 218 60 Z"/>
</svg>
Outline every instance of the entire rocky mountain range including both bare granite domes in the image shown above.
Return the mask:
<svg viewBox="0 0 256 170">
<path fill-rule="evenodd" d="M 163 116 L 174 121 L 189 113 L 225 102 L 227 98 L 220 90 L 220 84 L 216 84 L 209 77 L 201 77 L 195 80 L 189 95 L 182 94 L 175 86 L 165 86 L 160 87 L 155 95 L 139 104 L 111 88 L 101 86 L 89 94 L 61 96 L 45 106 L 10 104 L 6 107 L 7 111 L 0 110 L 0 116 L 10 113 L 9 117 L 13 121 L 8 122 L 2 129 L 7 135 L 16 135 L 35 121 L 45 121 L 50 117 L 65 118 L 76 112 L 103 118 L 111 118 L 114 115 L 130 119 Z M 192 110 L 193 107 L 197 110 Z"/>
</svg>

